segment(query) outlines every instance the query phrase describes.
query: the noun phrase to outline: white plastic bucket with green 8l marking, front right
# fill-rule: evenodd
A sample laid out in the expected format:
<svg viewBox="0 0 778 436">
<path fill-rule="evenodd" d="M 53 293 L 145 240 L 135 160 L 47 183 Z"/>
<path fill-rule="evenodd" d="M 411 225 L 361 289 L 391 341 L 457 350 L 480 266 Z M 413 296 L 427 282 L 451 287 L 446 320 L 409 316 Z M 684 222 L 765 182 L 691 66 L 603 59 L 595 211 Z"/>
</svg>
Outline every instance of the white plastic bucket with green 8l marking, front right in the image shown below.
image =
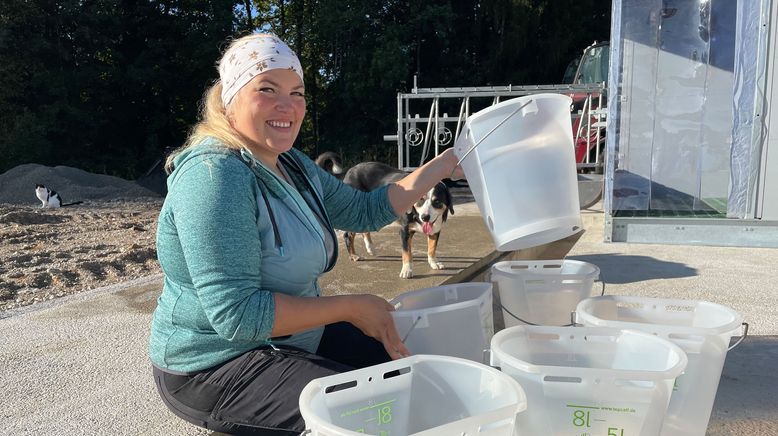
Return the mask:
<svg viewBox="0 0 778 436">
<path fill-rule="evenodd" d="M 494 335 L 491 355 L 527 394 L 522 435 L 657 436 L 686 367 L 670 341 L 602 327 L 511 327 Z"/>
</svg>

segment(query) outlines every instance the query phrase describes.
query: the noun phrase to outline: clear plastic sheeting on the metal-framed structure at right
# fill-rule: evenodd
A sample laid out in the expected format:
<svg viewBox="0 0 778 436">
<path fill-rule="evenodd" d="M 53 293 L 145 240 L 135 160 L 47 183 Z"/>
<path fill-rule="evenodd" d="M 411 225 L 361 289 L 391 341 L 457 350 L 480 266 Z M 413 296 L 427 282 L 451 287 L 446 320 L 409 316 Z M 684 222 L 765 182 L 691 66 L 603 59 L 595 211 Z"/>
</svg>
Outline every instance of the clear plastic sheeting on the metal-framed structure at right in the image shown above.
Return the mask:
<svg viewBox="0 0 778 436">
<path fill-rule="evenodd" d="M 743 129 L 747 120 L 735 117 L 739 109 L 733 102 L 742 105 L 748 99 L 743 89 L 749 85 L 736 83 L 745 76 L 736 76 L 735 65 L 755 58 L 742 41 L 754 37 L 756 30 L 743 20 L 753 19 L 745 4 L 755 3 L 762 2 L 614 0 L 605 186 L 609 213 L 723 214 L 731 192 L 743 189 L 742 171 L 735 167 L 744 158 L 734 151 L 733 135 L 742 136 L 735 143 L 743 151 L 750 142 Z M 741 89 L 741 103 L 736 89 Z"/>
</svg>

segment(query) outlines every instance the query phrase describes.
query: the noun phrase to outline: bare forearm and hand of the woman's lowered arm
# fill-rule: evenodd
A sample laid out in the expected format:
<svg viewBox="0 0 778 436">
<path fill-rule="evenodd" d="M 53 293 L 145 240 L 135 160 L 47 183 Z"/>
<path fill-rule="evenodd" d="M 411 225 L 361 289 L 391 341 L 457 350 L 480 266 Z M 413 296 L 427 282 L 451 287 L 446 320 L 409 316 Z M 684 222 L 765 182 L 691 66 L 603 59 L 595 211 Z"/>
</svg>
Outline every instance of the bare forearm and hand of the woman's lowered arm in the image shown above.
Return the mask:
<svg viewBox="0 0 778 436">
<path fill-rule="evenodd" d="M 281 293 L 275 293 L 274 297 L 272 337 L 347 321 L 381 342 L 392 359 L 410 356 L 394 326 L 394 318 L 390 313 L 394 307 L 381 297 L 363 294 L 307 298 Z"/>
</svg>

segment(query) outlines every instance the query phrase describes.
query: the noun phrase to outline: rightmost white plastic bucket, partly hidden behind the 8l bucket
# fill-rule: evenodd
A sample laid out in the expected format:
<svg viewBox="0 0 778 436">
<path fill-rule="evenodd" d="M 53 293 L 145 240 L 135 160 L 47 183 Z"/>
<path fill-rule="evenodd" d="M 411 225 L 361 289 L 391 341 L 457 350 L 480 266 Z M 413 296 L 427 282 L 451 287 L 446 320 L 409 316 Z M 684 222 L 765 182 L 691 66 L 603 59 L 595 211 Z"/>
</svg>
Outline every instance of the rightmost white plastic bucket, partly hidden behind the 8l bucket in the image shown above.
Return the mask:
<svg viewBox="0 0 778 436">
<path fill-rule="evenodd" d="M 589 326 L 642 330 L 681 347 L 689 364 L 676 380 L 661 434 L 705 434 L 730 339 L 743 323 L 740 315 L 707 301 L 608 295 L 582 301 L 576 318 Z"/>
</svg>

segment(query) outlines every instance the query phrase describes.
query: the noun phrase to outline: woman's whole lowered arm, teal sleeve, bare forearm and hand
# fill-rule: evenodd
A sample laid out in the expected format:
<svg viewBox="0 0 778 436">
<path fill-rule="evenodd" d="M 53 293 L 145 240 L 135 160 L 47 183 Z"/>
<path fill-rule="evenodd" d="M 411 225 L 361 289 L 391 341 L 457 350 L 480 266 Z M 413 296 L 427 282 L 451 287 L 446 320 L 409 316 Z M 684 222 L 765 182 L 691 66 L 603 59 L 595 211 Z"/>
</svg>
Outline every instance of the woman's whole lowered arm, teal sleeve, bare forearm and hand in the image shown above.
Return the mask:
<svg viewBox="0 0 778 436">
<path fill-rule="evenodd" d="M 293 297 L 261 290 L 261 246 L 253 174 L 217 157 L 176 181 L 170 195 L 184 267 L 211 326 L 236 341 L 264 341 L 347 321 L 384 344 L 392 358 L 409 355 L 394 327 L 394 307 L 374 295 Z M 180 185 L 179 185 L 180 183 Z"/>
</svg>

